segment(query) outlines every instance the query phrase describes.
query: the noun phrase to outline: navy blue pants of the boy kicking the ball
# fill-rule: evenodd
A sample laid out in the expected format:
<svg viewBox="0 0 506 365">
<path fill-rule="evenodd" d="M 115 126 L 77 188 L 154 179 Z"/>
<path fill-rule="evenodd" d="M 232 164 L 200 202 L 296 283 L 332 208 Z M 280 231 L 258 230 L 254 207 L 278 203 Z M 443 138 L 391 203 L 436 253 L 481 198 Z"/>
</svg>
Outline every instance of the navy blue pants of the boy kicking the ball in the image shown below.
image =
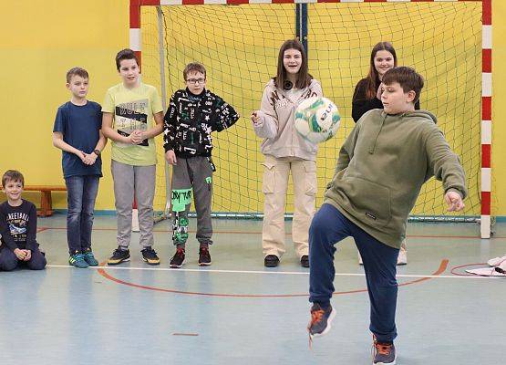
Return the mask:
<svg viewBox="0 0 506 365">
<path fill-rule="evenodd" d="M 309 228 L 309 301 L 323 307 L 334 293 L 336 243 L 352 236 L 364 261 L 371 304 L 369 329 L 380 342 L 397 337 L 396 279 L 398 249 L 378 241 L 346 218 L 335 206 L 323 204 Z"/>
</svg>

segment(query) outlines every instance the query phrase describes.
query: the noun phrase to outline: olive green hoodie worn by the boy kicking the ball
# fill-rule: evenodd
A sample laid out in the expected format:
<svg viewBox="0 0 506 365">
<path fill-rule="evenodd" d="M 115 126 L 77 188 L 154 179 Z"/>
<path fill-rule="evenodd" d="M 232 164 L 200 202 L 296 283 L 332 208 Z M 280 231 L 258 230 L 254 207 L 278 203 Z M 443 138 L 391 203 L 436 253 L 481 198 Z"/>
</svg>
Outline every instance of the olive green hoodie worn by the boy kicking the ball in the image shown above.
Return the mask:
<svg viewBox="0 0 506 365">
<path fill-rule="evenodd" d="M 408 214 L 430 177 L 467 195 L 459 157 L 426 110 L 370 110 L 347 137 L 325 202 L 385 245 L 399 248 Z"/>
</svg>

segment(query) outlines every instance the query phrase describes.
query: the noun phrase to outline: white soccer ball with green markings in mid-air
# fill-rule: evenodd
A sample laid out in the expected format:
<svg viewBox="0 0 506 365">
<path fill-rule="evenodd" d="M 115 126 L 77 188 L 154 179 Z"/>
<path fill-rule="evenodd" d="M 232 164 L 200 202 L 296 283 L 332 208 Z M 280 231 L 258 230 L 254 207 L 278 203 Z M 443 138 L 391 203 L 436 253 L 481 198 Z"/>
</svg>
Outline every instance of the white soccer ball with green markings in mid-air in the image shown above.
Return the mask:
<svg viewBox="0 0 506 365">
<path fill-rule="evenodd" d="M 305 99 L 295 110 L 295 130 L 313 143 L 331 139 L 336 135 L 340 122 L 336 104 L 323 97 Z"/>
</svg>

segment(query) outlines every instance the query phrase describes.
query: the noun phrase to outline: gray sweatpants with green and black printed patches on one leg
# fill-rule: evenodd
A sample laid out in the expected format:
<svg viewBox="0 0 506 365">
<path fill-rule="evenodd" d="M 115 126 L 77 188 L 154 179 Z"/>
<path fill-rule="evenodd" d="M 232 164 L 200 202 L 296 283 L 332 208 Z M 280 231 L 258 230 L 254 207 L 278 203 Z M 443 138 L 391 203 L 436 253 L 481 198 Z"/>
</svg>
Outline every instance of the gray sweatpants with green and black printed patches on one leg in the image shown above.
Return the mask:
<svg viewBox="0 0 506 365">
<path fill-rule="evenodd" d="M 207 157 L 178 157 L 172 166 L 172 241 L 183 245 L 188 239 L 191 190 L 197 212 L 197 240 L 212 245 L 212 166 Z"/>
</svg>

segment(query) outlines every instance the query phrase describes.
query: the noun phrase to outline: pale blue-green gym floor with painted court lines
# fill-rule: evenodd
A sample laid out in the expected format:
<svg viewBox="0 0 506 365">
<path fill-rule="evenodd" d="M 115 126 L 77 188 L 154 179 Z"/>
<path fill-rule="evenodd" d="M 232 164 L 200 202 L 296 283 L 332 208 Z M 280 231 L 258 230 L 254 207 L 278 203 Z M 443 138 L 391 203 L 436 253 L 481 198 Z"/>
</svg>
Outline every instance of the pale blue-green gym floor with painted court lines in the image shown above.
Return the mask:
<svg viewBox="0 0 506 365">
<path fill-rule="evenodd" d="M 67 264 L 66 217 L 39 219 L 44 271 L 0 273 L 0 364 L 369 364 L 363 269 L 351 239 L 336 253 L 333 328 L 309 349 L 308 269 L 287 234 L 281 265 L 263 267 L 260 221 L 213 220 L 212 266 L 199 267 L 191 220 L 186 264 L 170 269 L 170 223 L 155 225 L 160 266 L 132 235 L 131 261 Z M 506 255 L 506 224 L 490 240 L 478 224 L 409 224 L 398 267 L 398 364 L 485 364 L 504 359 L 505 278 L 466 276 Z M 290 232 L 290 222 L 286 223 Z M 116 248 L 116 218 L 96 216 L 93 249 Z"/>
</svg>

